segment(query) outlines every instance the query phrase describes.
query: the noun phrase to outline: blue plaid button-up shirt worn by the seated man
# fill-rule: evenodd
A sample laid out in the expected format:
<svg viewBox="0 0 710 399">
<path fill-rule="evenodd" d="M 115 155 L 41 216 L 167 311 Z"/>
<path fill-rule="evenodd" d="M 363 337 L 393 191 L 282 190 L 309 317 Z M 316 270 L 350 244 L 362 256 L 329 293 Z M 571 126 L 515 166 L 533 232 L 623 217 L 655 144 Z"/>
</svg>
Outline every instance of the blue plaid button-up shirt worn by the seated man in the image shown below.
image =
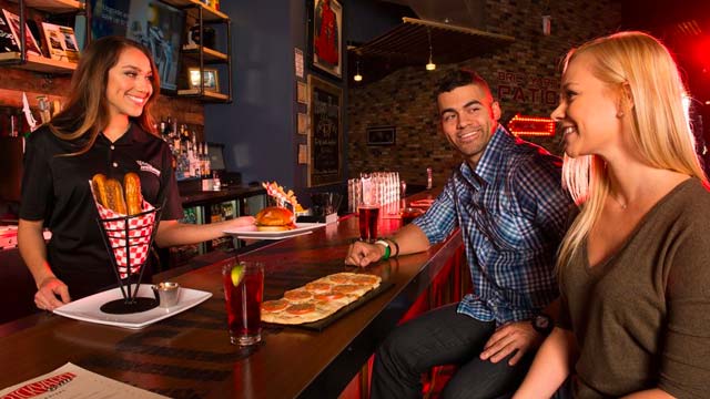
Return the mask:
<svg viewBox="0 0 710 399">
<path fill-rule="evenodd" d="M 572 205 L 560 164 L 498 125 L 476 170 L 464 162 L 414 221 L 430 243 L 460 226 L 474 293 L 459 313 L 501 325 L 530 319 L 557 297 L 555 256 Z"/>
</svg>

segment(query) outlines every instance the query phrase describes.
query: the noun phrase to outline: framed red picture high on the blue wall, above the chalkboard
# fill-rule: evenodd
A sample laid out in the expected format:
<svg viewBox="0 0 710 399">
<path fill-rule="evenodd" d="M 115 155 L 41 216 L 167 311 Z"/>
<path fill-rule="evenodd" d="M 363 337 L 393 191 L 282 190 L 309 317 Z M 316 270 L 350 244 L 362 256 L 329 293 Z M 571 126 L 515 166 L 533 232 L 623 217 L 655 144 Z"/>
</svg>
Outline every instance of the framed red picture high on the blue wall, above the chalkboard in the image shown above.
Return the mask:
<svg viewBox="0 0 710 399">
<path fill-rule="evenodd" d="M 308 0 L 308 49 L 314 68 L 343 75 L 343 6 L 338 0 Z"/>
</svg>

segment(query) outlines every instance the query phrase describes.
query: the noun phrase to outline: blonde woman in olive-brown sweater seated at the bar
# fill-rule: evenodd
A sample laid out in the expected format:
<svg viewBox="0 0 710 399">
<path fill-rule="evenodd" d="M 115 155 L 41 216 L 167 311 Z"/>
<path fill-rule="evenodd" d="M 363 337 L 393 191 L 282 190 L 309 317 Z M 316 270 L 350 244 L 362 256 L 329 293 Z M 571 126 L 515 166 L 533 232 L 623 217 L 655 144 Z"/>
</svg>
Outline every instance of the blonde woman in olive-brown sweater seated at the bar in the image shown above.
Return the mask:
<svg viewBox="0 0 710 399">
<path fill-rule="evenodd" d="M 561 315 L 515 398 L 710 395 L 710 194 L 668 50 L 641 32 L 568 53 Z M 703 186 L 704 185 L 704 186 Z"/>
</svg>

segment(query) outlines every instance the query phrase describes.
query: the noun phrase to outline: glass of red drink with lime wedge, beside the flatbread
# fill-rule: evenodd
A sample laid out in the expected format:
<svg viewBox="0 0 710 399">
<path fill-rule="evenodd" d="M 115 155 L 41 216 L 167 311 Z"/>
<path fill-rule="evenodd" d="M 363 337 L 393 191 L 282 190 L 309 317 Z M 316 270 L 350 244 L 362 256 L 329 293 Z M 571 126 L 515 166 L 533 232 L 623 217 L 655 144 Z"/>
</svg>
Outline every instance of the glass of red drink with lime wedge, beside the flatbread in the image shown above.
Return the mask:
<svg viewBox="0 0 710 399">
<path fill-rule="evenodd" d="M 222 267 L 230 341 L 250 346 L 262 340 L 262 299 L 264 265 L 257 262 L 231 262 Z"/>
</svg>

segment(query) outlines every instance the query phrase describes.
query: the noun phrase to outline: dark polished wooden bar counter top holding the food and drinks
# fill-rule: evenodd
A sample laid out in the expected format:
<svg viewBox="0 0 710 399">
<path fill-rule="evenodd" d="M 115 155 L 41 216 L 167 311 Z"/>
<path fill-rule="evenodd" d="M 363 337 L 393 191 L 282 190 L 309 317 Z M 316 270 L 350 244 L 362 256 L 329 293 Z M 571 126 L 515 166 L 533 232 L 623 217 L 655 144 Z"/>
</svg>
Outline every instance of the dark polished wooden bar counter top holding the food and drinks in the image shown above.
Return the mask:
<svg viewBox="0 0 710 399">
<path fill-rule="evenodd" d="M 430 192 L 409 200 L 432 197 Z M 381 218 L 379 235 L 399 227 Z M 240 254 L 265 264 L 265 299 L 315 278 L 357 272 L 344 265 L 358 236 L 357 217 Z M 140 330 L 90 324 L 48 313 L 0 326 L 0 388 L 70 361 L 93 372 L 174 398 L 335 398 L 377 345 L 452 259 L 463 262 L 460 233 L 420 254 L 368 266 L 393 286 L 323 331 L 266 327 L 254 348 L 232 346 L 221 265 L 234 255 L 213 252 L 190 266 L 154 276 L 211 291 L 205 303 Z M 440 277 L 440 276 L 439 276 Z M 6 304 L 4 306 L 8 306 Z"/>
</svg>

